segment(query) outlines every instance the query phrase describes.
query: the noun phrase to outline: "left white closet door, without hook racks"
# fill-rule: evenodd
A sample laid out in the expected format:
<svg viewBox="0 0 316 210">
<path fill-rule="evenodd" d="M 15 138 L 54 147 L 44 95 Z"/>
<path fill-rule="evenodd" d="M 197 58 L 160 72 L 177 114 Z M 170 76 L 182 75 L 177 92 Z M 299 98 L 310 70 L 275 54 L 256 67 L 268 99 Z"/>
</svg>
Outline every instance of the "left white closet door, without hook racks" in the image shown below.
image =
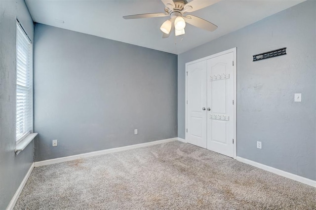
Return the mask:
<svg viewBox="0 0 316 210">
<path fill-rule="evenodd" d="M 206 60 L 187 66 L 188 143 L 206 148 Z M 204 110 L 203 110 L 204 109 Z"/>
</svg>

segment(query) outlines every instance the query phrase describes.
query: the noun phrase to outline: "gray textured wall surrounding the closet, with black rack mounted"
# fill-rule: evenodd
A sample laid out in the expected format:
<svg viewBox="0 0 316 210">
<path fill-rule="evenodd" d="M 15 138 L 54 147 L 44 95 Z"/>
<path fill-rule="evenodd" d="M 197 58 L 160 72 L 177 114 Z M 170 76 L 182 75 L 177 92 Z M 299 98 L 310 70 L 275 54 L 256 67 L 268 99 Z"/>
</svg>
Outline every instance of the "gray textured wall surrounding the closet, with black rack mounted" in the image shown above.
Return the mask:
<svg viewBox="0 0 316 210">
<path fill-rule="evenodd" d="M 316 180 L 315 8 L 315 0 L 303 2 L 178 55 L 178 137 L 185 138 L 185 63 L 237 47 L 237 156 Z M 252 62 L 281 47 L 287 55 Z"/>
</svg>

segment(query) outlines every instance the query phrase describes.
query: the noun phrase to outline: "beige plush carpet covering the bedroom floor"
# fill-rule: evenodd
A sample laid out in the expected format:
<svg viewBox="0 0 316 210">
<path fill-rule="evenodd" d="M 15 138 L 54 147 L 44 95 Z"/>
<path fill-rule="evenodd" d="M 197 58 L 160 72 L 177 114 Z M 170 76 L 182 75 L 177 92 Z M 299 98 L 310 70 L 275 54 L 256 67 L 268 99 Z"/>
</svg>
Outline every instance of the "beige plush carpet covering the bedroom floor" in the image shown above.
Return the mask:
<svg viewBox="0 0 316 210">
<path fill-rule="evenodd" d="M 15 210 L 313 210 L 316 188 L 172 141 L 35 168 Z"/>
</svg>

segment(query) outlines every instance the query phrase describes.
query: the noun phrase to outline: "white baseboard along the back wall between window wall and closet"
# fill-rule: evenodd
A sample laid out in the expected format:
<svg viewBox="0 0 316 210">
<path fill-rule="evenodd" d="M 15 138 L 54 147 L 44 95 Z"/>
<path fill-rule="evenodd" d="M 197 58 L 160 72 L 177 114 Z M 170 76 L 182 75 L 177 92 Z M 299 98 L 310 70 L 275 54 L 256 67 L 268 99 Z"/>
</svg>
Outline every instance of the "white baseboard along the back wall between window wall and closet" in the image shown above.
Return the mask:
<svg viewBox="0 0 316 210">
<path fill-rule="evenodd" d="M 122 147 L 117 147 L 117 148 L 88 152 L 88 153 L 83 153 L 83 154 L 79 154 L 79 155 L 72 155 L 72 156 L 67 156 L 67 157 L 43 160 L 43 161 L 35 162 L 34 167 L 46 166 L 46 165 L 51 165 L 51 164 L 55 164 L 55 163 L 62 163 L 62 162 L 71 161 L 71 160 L 78 160 L 80 158 L 85 158 L 85 157 L 92 157 L 92 156 L 109 154 L 109 153 L 113 153 L 113 152 L 125 151 L 125 150 L 129 150 L 129 149 L 135 149 L 135 148 L 155 145 L 155 144 L 159 144 L 159 143 L 166 143 L 166 142 L 170 142 L 170 141 L 174 141 L 174 140 L 178 140 L 178 138 L 156 140 L 156 141 L 151 141 L 151 142 L 146 142 L 146 143 L 140 143 L 140 144 L 134 144 L 134 145 L 129 145 L 129 146 L 122 146 Z"/>
</svg>

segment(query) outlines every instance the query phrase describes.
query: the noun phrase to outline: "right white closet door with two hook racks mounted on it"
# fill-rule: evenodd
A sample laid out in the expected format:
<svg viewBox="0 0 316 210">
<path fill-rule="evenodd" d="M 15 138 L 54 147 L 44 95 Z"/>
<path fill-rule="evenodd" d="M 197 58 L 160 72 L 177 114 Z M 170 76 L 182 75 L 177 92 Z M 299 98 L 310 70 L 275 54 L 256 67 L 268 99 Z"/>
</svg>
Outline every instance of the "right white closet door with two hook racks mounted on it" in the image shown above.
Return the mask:
<svg viewBox="0 0 316 210">
<path fill-rule="evenodd" d="M 234 53 L 207 60 L 207 149 L 234 155 Z"/>
</svg>

